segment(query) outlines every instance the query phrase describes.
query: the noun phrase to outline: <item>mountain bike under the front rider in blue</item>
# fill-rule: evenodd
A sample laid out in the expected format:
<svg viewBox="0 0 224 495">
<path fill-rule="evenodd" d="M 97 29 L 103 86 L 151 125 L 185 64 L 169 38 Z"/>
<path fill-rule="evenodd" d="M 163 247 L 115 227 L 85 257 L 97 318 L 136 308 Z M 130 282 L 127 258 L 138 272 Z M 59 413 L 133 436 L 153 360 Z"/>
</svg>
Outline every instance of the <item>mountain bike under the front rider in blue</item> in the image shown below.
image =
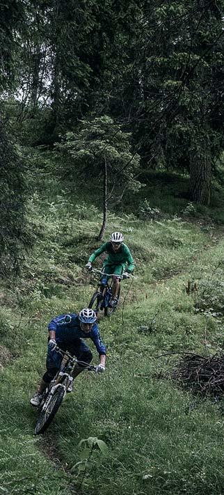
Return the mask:
<svg viewBox="0 0 224 495">
<path fill-rule="evenodd" d="M 78 361 L 78 359 L 72 356 L 69 352 L 63 351 L 60 347 L 55 347 L 56 352 L 61 354 L 63 358 L 67 358 L 66 363 L 61 366 L 61 370 L 56 373 L 56 376 L 49 386 L 45 389 L 42 397 L 42 401 L 38 407 L 38 420 L 35 424 L 35 435 L 44 433 L 49 427 L 52 419 L 56 415 L 63 398 L 67 393 L 67 388 L 72 384 L 73 377 L 72 371 L 75 364 L 80 364 L 88 371 L 96 371 L 97 367 L 83 361 Z"/>
</svg>

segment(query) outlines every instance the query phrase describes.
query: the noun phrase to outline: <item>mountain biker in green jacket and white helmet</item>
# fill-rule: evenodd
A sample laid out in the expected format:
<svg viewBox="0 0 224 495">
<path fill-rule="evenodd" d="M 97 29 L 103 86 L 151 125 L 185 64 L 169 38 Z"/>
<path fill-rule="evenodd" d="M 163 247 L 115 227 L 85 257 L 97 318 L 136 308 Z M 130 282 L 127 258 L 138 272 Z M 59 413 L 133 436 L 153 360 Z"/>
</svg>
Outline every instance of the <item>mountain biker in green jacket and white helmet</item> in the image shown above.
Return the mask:
<svg viewBox="0 0 224 495">
<path fill-rule="evenodd" d="M 134 260 L 131 256 L 131 251 L 123 243 L 124 236 L 120 232 L 113 232 L 111 234 L 111 239 L 109 242 L 104 242 L 102 246 L 94 251 L 93 254 L 88 258 L 88 263 L 86 264 L 86 268 L 88 270 L 92 269 L 92 263 L 95 261 L 95 258 L 100 254 L 104 253 L 104 251 L 109 255 L 104 261 L 102 271 L 106 275 L 115 274 L 119 276 L 123 276 L 123 278 L 129 278 L 129 274 L 134 270 Z M 118 302 L 118 290 L 120 287 L 120 279 L 116 276 L 113 276 L 113 285 L 112 285 L 112 299 L 110 302 L 110 306 L 113 307 Z"/>
</svg>

